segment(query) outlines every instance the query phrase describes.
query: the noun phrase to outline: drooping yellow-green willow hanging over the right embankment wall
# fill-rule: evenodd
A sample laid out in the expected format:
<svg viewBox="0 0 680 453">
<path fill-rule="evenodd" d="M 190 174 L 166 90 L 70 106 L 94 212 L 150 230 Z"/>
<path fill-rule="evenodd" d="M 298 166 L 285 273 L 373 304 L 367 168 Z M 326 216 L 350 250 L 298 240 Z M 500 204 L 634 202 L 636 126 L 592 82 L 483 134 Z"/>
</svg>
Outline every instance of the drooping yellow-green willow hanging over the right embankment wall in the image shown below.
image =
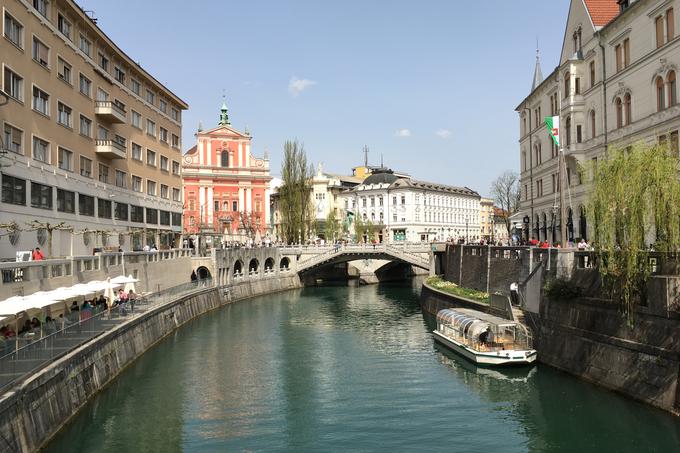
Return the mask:
<svg viewBox="0 0 680 453">
<path fill-rule="evenodd" d="M 680 251 L 678 158 L 666 146 L 610 151 L 590 168 L 588 218 L 604 289 L 628 321 L 650 276 L 649 252 Z"/>
</svg>

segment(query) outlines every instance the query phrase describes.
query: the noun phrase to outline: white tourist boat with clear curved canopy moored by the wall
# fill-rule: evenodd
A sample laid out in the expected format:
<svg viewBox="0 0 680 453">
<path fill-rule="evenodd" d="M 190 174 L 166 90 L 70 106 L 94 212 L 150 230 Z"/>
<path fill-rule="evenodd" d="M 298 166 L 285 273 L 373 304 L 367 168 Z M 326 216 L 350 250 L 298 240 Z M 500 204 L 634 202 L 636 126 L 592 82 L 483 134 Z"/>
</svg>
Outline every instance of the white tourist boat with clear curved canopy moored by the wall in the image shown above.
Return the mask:
<svg viewBox="0 0 680 453">
<path fill-rule="evenodd" d="M 522 324 L 466 308 L 437 313 L 434 339 L 480 366 L 526 365 L 536 360 Z"/>
</svg>

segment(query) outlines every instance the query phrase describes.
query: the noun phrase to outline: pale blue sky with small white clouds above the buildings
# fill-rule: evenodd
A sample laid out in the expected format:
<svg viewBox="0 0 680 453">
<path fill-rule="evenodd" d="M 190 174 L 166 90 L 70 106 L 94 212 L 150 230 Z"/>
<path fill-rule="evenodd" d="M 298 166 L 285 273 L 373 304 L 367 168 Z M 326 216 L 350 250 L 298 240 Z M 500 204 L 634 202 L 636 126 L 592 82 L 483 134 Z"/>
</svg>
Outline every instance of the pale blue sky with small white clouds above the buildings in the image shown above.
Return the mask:
<svg viewBox="0 0 680 453">
<path fill-rule="evenodd" d="M 216 125 L 223 90 L 232 125 L 266 149 L 302 141 L 315 164 L 369 161 L 488 194 L 518 170 L 514 109 L 559 59 L 568 0 L 77 0 L 128 55 Z M 130 12 L 134 11 L 134 14 Z"/>
</svg>

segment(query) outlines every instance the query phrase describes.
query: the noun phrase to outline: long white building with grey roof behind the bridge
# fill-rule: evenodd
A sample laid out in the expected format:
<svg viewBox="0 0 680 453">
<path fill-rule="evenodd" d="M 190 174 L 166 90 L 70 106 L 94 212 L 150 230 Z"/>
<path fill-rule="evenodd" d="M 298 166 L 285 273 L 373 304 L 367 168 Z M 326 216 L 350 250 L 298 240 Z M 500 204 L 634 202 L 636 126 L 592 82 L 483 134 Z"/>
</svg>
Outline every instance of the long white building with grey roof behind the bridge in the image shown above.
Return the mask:
<svg viewBox="0 0 680 453">
<path fill-rule="evenodd" d="M 480 238 L 477 192 L 399 177 L 390 170 L 374 172 L 340 194 L 350 223 L 359 216 L 375 227 L 378 242 Z"/>
</svg>

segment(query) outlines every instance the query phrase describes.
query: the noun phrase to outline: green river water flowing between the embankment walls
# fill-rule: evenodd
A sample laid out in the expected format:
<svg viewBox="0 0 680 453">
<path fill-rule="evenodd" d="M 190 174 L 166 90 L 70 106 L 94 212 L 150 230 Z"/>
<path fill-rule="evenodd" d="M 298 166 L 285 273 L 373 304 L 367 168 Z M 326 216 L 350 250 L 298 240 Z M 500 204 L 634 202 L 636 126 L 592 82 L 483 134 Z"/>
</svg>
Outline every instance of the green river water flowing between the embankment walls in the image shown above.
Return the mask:
<svg viewBox="0 0 680 453">
<path fill-rule="evenodd" d="M 418 282 L 305 288 L 200 317 L 49 452 L 676 452 L 680 418 L 545 366 L 435 347 Z"/>
</svg>

